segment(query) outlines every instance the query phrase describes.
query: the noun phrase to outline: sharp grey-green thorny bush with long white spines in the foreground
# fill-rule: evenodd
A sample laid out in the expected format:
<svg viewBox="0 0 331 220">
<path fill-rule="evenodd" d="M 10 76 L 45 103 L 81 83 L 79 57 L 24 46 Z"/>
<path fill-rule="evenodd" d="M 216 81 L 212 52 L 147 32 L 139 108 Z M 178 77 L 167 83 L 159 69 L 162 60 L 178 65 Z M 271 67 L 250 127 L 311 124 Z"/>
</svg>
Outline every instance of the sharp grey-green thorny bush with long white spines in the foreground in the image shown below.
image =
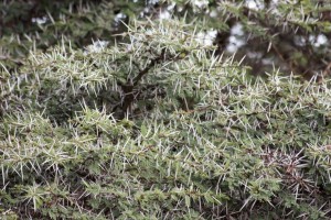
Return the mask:
<svg viewBox="0 0 331 220">
<path fill-rule="evenodd" d="M 2 69 L 3 217 L 330 217 L 330 81 L 249 77 L 191 26 Z"/>
</svg>

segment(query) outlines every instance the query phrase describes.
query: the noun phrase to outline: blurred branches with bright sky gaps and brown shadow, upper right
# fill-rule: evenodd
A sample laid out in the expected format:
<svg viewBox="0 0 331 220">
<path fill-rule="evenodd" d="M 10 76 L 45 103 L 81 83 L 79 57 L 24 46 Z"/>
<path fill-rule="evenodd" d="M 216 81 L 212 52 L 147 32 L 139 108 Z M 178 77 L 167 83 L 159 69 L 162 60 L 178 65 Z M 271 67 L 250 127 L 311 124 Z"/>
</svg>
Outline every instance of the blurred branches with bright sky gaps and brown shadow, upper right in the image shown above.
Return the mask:
<svg viewBox="0 0 331 220">
<path fill-rule="evenodd" d="M 209 0 L 173 1 L 174 14 L 201 19 L 200 25 L 218 31 L 215 44 L 220 53 L 237 46 L 236 59 L 253 74 L 270 72 L 275 65 L 282 72 L 330 76 L 331 1 L 323 0 Z M 242 26 L 239 32 L 238 25 Z M 241 36 L 236 36 L 241 35 Z M 233 41 L 236 38 L 236 41 Z M 318 40 L 319 38 L 319 40 Z M 322 40 L 323 38 L 323 40 Z M 320 41 L 322 40 L 322 41 Z M 238 43 L 243 41 L 242 43 Z M 271 63 L 271 65 L 270 65 Z"/>
</svg>

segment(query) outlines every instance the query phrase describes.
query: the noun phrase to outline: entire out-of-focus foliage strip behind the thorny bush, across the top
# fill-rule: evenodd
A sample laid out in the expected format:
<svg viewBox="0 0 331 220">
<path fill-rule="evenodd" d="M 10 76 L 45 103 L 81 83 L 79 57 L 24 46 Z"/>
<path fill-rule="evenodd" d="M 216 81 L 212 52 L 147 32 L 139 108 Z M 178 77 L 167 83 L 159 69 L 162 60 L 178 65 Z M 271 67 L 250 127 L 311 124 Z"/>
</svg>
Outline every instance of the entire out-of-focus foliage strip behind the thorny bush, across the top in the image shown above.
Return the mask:
<svg viewBox="0 0 331 220">
<path fill-rule="evenodd" d="M 124 23 L 139 19 L 185 16 L 216 31 L 218 54 L 235 58 L 264 75 L 284 73 L 327 77 L 331 72 L 331 3 L 327 0 L 61 0 L 0 3 L 0 59 L 15 68 L 29 50 L 46 50 L 60 41 L 84 47 L 93 41 L 114 42 Z"/>
</svg>

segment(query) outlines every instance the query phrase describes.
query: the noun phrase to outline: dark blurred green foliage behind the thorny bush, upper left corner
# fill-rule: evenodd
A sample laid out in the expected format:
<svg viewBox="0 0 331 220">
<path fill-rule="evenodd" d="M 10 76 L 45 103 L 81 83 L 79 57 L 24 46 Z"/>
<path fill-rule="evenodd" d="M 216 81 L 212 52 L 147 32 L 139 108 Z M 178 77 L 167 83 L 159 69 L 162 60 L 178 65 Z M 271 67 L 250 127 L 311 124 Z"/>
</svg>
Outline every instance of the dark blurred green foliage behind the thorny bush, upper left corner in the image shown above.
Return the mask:
<svg viewBox="0 0 331 220">
<path fill-rule="evenodd" d="M 130 14 L 132 8 L 132 2 L 121 1 L 2 1 L 0 59 L 11 70 L 21 66 L 29 51 L 45 51 L 58 40 L 71 42 L 75 48 L 93 38 L 113 40 L 121 30 L 115 25 L 115 11 Z"/>
</svg>

